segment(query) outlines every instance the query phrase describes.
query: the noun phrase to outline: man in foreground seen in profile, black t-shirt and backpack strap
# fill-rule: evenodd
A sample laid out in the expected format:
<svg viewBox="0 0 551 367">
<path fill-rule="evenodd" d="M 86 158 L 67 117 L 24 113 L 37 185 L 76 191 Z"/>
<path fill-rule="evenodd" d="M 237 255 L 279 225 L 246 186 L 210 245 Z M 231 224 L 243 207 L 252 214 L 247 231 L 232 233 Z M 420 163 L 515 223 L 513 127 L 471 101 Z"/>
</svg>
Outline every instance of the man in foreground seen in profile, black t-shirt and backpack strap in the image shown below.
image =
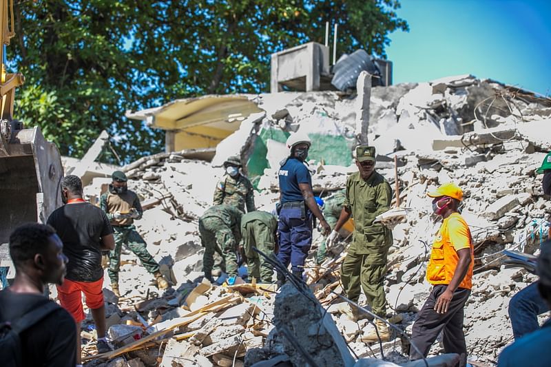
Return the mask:
<svg viewBox="0 0 551 367">
<path fill-rule="evenodd" d="M 10 256 L 15 266 L 13 285 L 0 291 L 0 323 L 17 320 L 53 301 L 44 297 L 48 283 L 61 284 L 67 258 L 54 229 L 30 223 L 10 235 Z M 74 367 L 76 327 L 67 311 L 57 309 L 19 334 L 21 363 L 26 366 Z M 6 357 L 6 356 L 3 356 Z"/>
</svg>

